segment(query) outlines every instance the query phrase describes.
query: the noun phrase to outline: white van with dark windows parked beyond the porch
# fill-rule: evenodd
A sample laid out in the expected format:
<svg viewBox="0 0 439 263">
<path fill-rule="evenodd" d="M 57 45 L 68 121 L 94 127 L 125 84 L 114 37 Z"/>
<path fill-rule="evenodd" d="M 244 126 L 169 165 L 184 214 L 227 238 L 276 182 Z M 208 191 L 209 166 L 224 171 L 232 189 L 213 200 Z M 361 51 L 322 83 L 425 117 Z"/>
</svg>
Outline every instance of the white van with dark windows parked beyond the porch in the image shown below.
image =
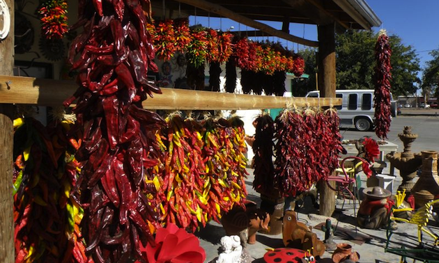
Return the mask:
<svg viewBox="0 0 439 263">
<path fill-rule="evenodd" d="M 318 90 L 305 97 L 320 97 Z M 342 98 L 341 106 L 336 106 L 341 127 L 355 127 L 359 131 L 369 131 L 373 127 L 373 90 L 335 90 L 335 97 Z M 396 117 L 396 101 L 392 102 L 392 117 Z"/>
</svg>

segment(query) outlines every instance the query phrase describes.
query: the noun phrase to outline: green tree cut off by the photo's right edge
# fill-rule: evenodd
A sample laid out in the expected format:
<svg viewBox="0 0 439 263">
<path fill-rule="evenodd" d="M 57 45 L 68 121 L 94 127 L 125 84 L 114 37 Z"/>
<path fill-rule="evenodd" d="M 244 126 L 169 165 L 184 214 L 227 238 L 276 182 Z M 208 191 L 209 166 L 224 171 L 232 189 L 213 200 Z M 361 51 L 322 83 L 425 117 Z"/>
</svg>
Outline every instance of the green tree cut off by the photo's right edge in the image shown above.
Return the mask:
<svg viewBox="0 0 439 263">
<path fill-rule="evenodd" d="M 426 62 L 426 67 L 422 75 L 422 90 L 427 95 L 434 94 L 439 97 L 439 49 L 430 52 L 433 57 Z"/>
</svg>

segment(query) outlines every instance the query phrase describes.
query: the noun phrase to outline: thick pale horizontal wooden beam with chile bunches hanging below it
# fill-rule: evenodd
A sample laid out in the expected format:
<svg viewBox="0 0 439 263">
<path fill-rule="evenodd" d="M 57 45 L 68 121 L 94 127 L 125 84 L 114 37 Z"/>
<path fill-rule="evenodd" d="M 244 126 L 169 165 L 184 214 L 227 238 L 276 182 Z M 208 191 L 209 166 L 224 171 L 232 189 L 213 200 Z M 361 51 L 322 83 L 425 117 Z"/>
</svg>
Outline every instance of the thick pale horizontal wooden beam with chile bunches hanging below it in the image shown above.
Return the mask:
<svg viewBox="0 0 439 263">
<path fill-rule="evenodd" d="M 8 84 L 6 84 L 8 83 Z M 77 89 L 73 81 L 0 76 L 0 103 L 59 106 Z M 295 106 L 338 106 L 339 98 L 275 97 L 162 88 L 143 102 L 146 109 L 230 110 L 277 109 Z"/>
</svg>

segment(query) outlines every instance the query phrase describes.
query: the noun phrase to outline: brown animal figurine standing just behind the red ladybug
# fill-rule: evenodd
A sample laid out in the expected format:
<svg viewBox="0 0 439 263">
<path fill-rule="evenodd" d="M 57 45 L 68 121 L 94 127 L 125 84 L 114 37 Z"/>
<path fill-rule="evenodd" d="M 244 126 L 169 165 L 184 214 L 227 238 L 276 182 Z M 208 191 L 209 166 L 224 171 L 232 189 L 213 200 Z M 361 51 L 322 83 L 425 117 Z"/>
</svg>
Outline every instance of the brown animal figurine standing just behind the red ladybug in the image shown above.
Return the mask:
<svg viewBox="0 0 439 263">
<path fill-rule="evenodd" d="M 297 216 L 292 210 L 284 212 L 282 239 L 286 247 L 307 250 L 314 257 L 321 257 L 325 253 L 323 241 L 317 238 L 316 233 L 302 222 L 297 221 Z"/>
</svg>

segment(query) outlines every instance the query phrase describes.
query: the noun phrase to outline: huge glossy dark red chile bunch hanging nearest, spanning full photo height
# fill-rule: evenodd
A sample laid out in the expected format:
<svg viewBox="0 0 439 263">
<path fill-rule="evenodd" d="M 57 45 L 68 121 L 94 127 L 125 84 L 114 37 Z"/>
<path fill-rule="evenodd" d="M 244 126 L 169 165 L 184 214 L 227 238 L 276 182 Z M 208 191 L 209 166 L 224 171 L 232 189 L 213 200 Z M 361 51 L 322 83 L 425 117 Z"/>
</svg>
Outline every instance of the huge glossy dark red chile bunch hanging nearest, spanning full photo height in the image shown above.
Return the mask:
<svg viewBox="0 0 439 263">
<path fill-rule="evenodd" d="M 165 122 L 142 108 L 161 93 L 147 79 L 157 72 L 146 28 L 149 0 L 80 0 L 84 31 L 72 41 L 69 61 L 79 88 L 64 102 L 83 129 L 76 158 L 84 161 L 77 187 L 84 207 L 86 253 L 95 262 L 145 262 L 154 245 L 159 207 L 151 170 L 160 157 L 155 131 Z"/>
</svg>

